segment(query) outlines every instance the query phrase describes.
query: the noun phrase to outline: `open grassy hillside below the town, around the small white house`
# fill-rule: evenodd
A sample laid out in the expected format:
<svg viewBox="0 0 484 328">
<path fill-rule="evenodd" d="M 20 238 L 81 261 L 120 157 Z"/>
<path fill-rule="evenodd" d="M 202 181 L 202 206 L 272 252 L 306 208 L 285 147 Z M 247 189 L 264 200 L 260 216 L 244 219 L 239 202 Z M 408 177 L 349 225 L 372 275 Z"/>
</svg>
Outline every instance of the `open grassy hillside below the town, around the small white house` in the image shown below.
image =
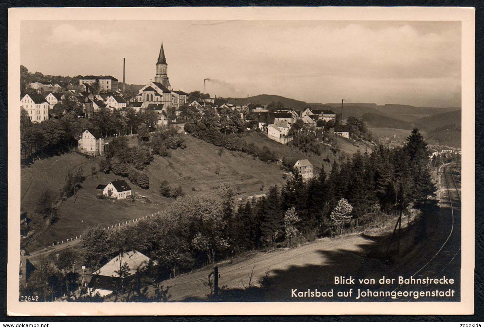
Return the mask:
<svg viewBox="0 0 484 328">
<path fill-rule="evenodd" d="M 257 133 L 248 134 L 246 137 L 261 148 L 267 145 L 272 151 L 284 156 L 308 158 L 319 167 L 326 157 L 326 154 L 325 157 L 303 154 Z M 184 140 L 186 149 L 172 150 L 170 157 L 155 156 L 154 161 L 145 168 L 150 177 L 150 189 L 144 190 L 129 183 L 134 192 L 147 196 L 148 201 L 97 199 L 96 195 L 102 194 L 96 190 L 98 184 L 123 179 L 104 173 L 92 176 L 91 167 L 99 167 L 98 162 L 102 158 L 93 160 L 72 152 L 37 161 L 23 168 L 21 205 L 29 213 L 29 217 L 32 217 L 33 226 L 38 230 L 43 227 L 43 220 L 40 213 L 35 213 L 38 212 L 37 207 L 45 191 L 50 190 L 53 196 L 58 197 L 67 172 L 78 166 L 84 167 L 86 176 L 82 189 L 76 196 L 61 203 L 57 211 L 59 220 L 37 240 L 31 242 L 27 249 L 38 249 L 58 240 L 79 236 L 87 226 L 119 224 L 163 209 L 171 202 L 158 194 L 163 180 L 167 180 L 173 187 L 181 186 L 186 194 L 208 191 L 219 183 L 227 182 L 237 190 L 240 197 L 265 193 L 270 186 L 284 184 L 286 181 L 283 178 L 284 171 L 275 163 L 266 164 L 245 153 L 227 149 L 223 149 L 219 155 L 219 147 L 190 135 L 185 135 Z"/>
</svg>

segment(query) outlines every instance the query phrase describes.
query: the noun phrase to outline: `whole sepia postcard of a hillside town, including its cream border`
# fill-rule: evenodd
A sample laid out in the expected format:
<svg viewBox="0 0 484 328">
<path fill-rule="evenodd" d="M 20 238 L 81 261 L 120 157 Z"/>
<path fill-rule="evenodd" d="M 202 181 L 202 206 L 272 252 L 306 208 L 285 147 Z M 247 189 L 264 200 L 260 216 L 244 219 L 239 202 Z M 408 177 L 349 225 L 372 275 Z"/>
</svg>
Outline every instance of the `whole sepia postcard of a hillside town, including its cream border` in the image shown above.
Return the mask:
<svg viewBox="0 0 484 328">
<path fill-rule="evenodd" d="M 471 8 L 10 9 L 9 314 L 473 313 L 473 41 Z"/>
</svg>

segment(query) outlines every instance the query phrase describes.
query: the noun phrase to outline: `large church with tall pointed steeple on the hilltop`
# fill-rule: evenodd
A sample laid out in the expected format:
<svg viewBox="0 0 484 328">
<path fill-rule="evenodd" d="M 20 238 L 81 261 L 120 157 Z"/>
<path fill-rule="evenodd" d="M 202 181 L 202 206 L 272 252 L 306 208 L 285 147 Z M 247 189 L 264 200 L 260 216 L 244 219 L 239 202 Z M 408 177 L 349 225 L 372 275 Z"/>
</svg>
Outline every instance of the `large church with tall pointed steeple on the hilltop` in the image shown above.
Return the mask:
<svg viewBox="0 0 484 328">
<path fill-rule="evenodd" d="M 143 88 L 138 90 L 138 94 L 133 97 L 132 101 L 141 102 L 141 109 L 146 109 L 150 104 L 155 104 L 163 109 L 178 109 L 182 104 L 188 101 L 188 94 L 178 90 L 171 89 L 168 79 L 168 64 L 166 63 L 165 49 L 161 44 L 160 54 L 156 62 L 156 75 L 154 80 L 150 81 Z"/>
</svg>

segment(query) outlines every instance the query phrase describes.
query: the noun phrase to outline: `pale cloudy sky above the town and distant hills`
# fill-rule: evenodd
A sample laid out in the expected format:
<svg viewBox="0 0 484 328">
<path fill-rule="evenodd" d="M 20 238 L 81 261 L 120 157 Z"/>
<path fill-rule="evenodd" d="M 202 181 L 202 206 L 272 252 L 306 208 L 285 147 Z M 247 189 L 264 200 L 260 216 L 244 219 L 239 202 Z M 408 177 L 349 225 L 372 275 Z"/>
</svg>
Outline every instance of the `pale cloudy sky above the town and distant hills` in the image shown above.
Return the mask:
<svg viewBox="0 0 484 328">
<path fill-rule="evenodd" d="M 163 42 L 173 89 L 309 103 L 461 105 L 459 21 L 22 21 L 21 64 L 146 84 Z"/>
</svg>

